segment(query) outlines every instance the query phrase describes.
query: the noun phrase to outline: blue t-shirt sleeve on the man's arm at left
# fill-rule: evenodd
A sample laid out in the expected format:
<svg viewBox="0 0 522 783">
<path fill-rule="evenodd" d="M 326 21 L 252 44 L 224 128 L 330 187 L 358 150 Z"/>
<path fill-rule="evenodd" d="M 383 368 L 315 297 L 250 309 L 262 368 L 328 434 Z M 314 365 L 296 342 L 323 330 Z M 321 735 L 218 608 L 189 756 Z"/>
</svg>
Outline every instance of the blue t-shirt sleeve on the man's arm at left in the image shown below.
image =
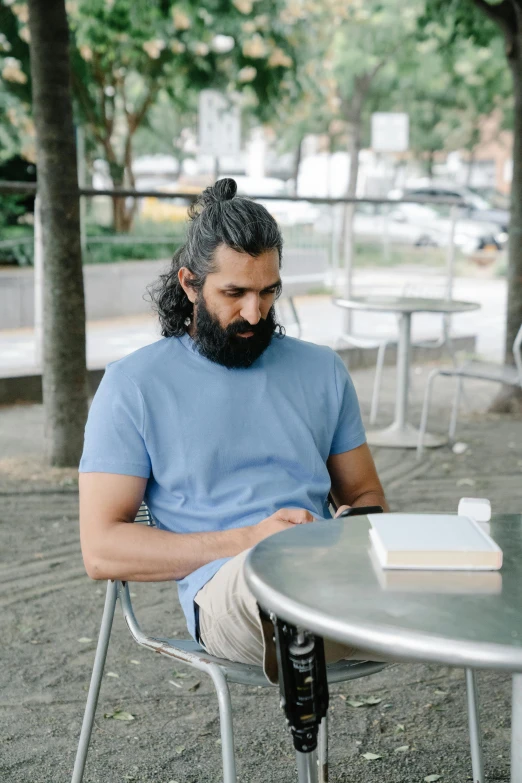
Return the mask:
<svg viewBox="0 0 522 783">
<path fill-rule="evenodd" d="M 117 366 L 109 365 L 89 410 L 80 472 L 149 478 L 144 427 L 145 406 L 139 388 Z"/>
</svg>

